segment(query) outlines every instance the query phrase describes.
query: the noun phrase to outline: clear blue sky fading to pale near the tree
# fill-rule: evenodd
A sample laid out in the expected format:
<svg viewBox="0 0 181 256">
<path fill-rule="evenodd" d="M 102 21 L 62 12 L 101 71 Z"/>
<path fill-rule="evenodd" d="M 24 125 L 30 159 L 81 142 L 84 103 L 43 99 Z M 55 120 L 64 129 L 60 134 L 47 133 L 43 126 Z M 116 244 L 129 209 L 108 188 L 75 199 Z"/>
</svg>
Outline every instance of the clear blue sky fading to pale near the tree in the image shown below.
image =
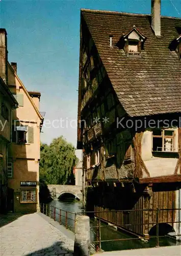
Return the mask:
<svg viewBox="0 0 181 256">
<path fill-rule="evenodd" d="M 0 0 L 8 60 L 27 90 L 41 92 L 43 143 L 64 136 L 76 147 L 81 8 L 150 14 L 151 0 Z M 181 17 L 181 0 L 162 0 L 161 14 Z"/>
</svg>

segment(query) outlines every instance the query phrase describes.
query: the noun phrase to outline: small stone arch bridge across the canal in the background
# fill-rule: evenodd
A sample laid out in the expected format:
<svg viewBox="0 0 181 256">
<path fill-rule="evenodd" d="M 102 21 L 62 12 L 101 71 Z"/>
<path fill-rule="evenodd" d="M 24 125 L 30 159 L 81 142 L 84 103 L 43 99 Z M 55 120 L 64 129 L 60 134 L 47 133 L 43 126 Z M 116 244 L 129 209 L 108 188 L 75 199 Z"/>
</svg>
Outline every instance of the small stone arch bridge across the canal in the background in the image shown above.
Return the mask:
<svg viewBox="0 0 181 256">
<path fill-rule="evenodd" d="M 63 194 L 66 193 L 75 196 L 75 198 L 79 200 L 82 200 L 82 186 L 49 184 L 48 189 L 51 197 L 54 200 L 59 199 Z"/>
</svg>

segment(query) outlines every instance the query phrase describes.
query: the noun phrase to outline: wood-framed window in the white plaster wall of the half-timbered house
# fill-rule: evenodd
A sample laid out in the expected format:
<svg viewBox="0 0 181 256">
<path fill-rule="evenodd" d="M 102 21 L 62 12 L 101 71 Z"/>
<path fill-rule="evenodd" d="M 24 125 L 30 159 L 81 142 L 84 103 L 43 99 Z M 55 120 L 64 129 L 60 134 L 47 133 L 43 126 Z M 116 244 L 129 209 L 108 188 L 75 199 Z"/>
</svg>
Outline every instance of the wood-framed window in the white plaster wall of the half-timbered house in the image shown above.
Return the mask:
<svg viewBox="0 0 181 256">
<path fill-rule="evenodd" d="M 152 137 L 152 151 L 175 152 L 173 130 L 154 130 Z"/>
</svg>

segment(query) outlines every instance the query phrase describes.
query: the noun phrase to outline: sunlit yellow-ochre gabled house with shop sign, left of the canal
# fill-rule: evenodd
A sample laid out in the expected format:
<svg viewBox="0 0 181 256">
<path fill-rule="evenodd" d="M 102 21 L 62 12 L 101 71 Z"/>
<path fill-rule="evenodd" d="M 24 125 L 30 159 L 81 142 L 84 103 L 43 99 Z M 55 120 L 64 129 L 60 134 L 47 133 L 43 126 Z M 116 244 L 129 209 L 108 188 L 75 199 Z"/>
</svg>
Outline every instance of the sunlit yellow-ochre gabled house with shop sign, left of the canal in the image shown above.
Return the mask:
<svg viewBox="0 0 181 256">
<path fill-rule="evenodd" d="M 4 52 L 7 52 L 6 33 Z M 17 76 L 17 65 L 4 62 L 3 74 L 6 83 L 18 102 L 18 108 L 12 113 L 12 140 L 8 145 L 8 187 L 11 189 L 12 210 L 21 212 L 37 211 L 39 208 L 39 160 L 40 131 L 43 117 L 39 112 L 39 92 L 28 92 Z M 6 63 L 5 63 L 6 62 Z"/>
</svg>

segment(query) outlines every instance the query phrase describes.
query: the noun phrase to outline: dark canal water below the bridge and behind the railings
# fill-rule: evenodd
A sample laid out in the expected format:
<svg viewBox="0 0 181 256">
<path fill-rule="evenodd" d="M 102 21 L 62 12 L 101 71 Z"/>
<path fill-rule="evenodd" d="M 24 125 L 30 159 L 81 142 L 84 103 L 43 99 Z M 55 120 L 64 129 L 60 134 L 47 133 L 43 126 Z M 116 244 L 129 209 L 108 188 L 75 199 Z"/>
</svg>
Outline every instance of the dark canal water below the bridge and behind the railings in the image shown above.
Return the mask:
<svg viewBox="0 0 181 256">
<path fill-rule="evenodd" d="M 80 201 L 67 199 L 64 201 L 54 200 L 49 203 L 50 206 L 50 214 L 51 218 L 54 218 L 54 207 L 57 207 L 56 209 L 56 220 L 60 221 L 60 209 L 64 210 L 61 211 L 61 222 L 65 225 L 66 223 L 66 214 L 65 211 L 71 211 L 71 212 L 82 212 L 82 203 Z M 51 207 L 54 206 L 54 207 Z M 52 210 L 51 210 L 52 208 Z M 68 213 L 67 215 L 67 226 L 70 230 L 74 230 L 74 218 L 75 215 Z M 97 221 L 93 218 L 90 219 L 90 226 L 91 228 L 91 241 L 96 241 L 96 228 L 93 228 L 94 226 L 97 226 Z M 127 234 L 123 231 L 116 230 L 114 227 L 109 226 L 105 223 L 101 222 L 101 240 L 115 240 L 115 239 L 129 239 L 134 238 L 130 234 Z M 178 244 L 173 239 L 170 239 L 168 237 L 165 238 L 159 238 L 159 245 L 160 246 L 170 246 Z M 101 249 L 105 251 L 113 251 L 113 250 L 126 250 L 126 249 L 138 249 L 138 248 L 148 248 L 148 247 L 155 247 L 157 244 L 156 238 L 151 238 L 149 241 L 144 242 L 140 239 L 138 240 L 124 240 L 124 241 L 106 241 L 101 242 Z"/>
</svg>

